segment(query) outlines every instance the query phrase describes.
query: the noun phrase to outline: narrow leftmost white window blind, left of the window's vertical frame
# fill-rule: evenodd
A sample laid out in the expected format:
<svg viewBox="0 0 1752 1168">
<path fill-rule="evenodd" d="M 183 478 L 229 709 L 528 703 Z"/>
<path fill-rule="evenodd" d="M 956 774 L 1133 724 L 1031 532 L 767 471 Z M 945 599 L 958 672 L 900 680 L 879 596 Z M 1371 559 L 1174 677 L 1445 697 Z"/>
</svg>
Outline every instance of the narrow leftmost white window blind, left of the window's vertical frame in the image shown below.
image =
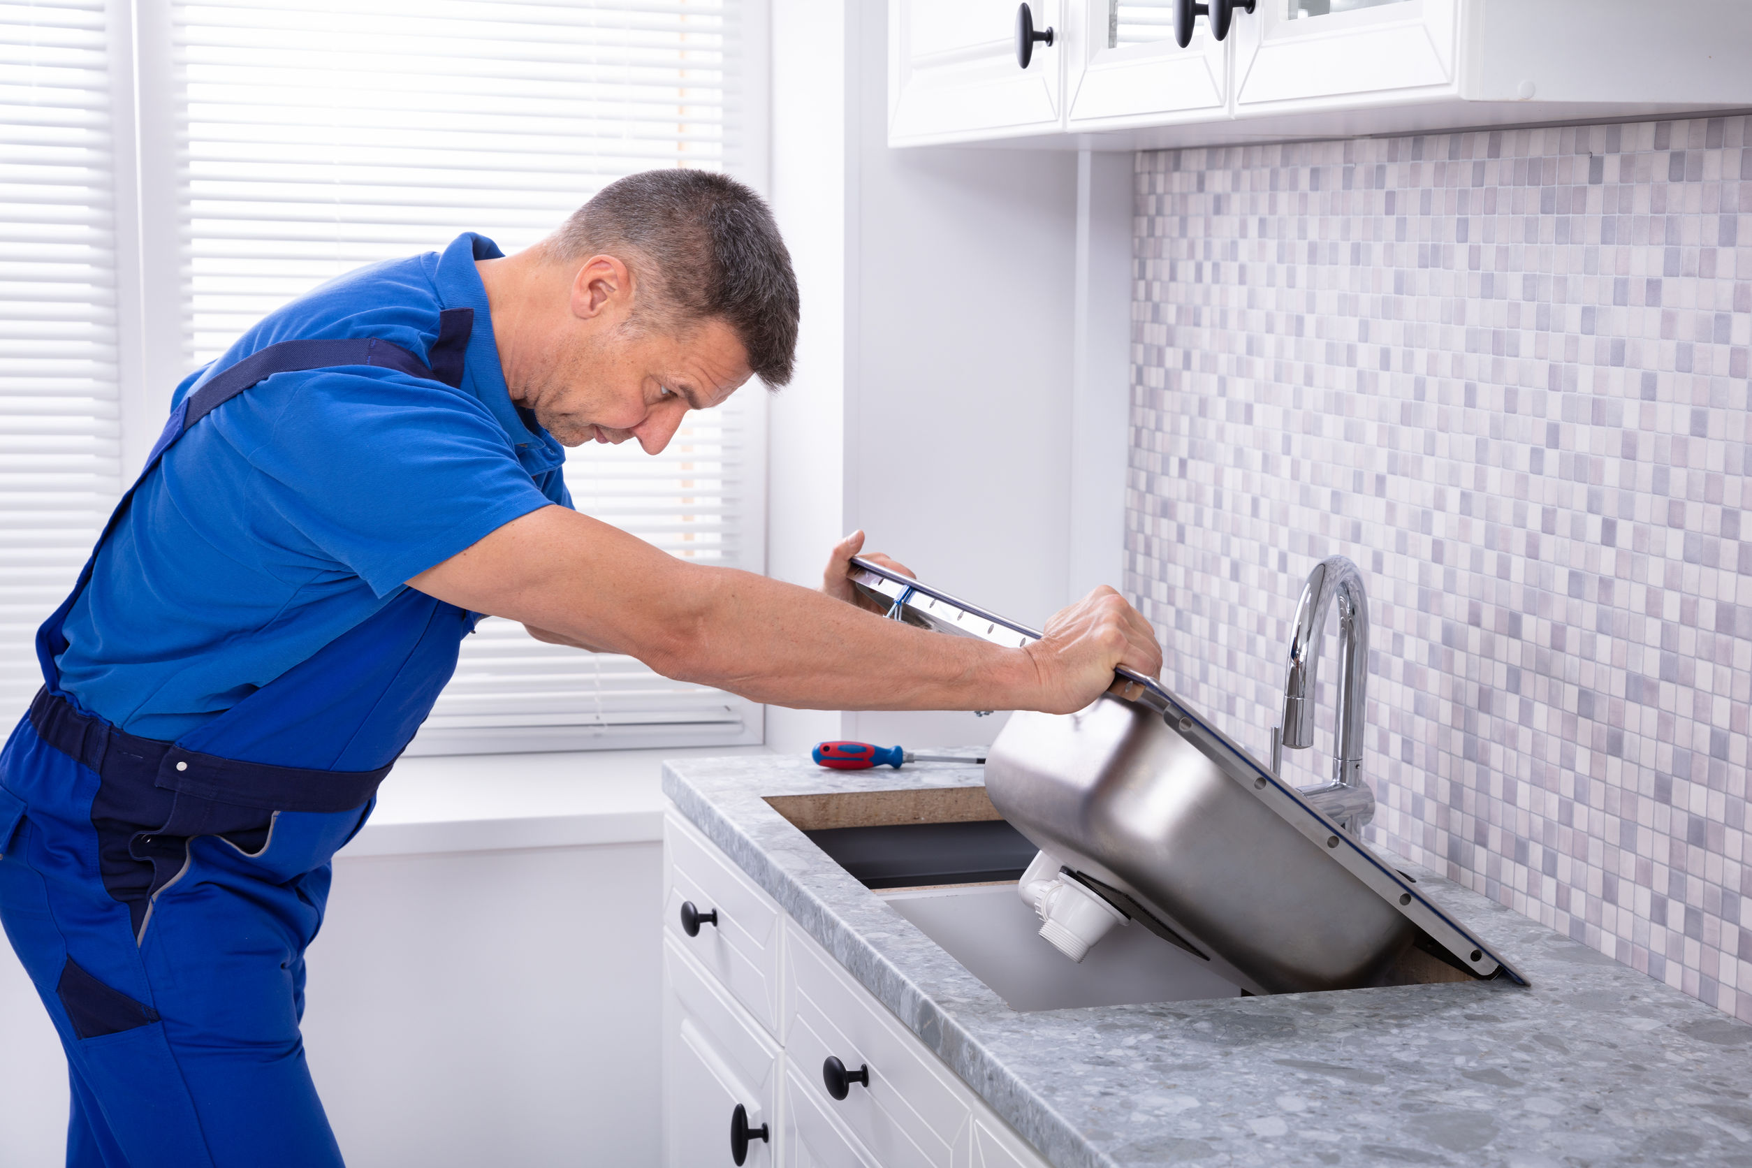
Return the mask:
<svg viewBox="0 0 1752 1168">
<path fill-rule="evenodd" d="M 0 709 L 116 503 L 114 149 L 102 0 L 0 4 Z"/>
</svg>

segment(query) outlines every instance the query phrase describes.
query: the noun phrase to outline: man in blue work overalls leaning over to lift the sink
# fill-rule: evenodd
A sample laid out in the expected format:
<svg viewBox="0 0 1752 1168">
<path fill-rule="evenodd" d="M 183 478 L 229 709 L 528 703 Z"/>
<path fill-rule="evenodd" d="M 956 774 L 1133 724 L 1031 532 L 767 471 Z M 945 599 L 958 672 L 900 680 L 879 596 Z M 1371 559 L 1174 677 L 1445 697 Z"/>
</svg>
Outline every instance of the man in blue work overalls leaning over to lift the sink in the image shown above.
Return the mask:
<svg viewBox="0 0 1752 1168">
<path fill-rule="evenodd" d="M 795 331 L 766 205 L 666 170 L 517 256 L 342 277 L 177 389 L 0 755 L 0 919 L 67 1047 L 70 1164 L 342 1163 L 303 951 L 480 613 L 787 706 L 1070 711 L 1160 669 L 1107 588 L 1002 650 L 843 602 L 862 536 L 808 592 L 569 508 L 561 443 L 657 454 L 783 385 Z"/>
</svg>

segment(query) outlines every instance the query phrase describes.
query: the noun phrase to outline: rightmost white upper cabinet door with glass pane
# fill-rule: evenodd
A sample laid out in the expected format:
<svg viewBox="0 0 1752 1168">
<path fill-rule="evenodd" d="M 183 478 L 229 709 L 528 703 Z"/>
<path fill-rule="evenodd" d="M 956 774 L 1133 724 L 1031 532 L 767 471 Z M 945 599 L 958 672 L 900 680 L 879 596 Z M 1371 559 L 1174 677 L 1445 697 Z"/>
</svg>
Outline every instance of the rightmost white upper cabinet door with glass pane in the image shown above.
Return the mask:
<svg viewBox="0 0 1752 1168">
<path fill-rule="evenodd" d="M 1258 0 L 1235 14 L 1235 114 L 1459 91 L 1459 0 Z"/>
</svg>

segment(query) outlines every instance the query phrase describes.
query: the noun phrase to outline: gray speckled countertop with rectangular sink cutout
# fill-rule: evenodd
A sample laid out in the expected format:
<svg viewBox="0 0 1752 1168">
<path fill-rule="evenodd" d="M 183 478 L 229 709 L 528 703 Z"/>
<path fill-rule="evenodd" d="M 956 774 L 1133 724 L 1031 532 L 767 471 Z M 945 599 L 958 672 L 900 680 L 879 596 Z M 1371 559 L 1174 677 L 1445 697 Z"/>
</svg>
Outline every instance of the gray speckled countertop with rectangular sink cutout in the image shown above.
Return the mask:
<svg viewBox="0 0 1752 1168">
<path fill-rule="evenodd" d="M 978 786 L 978 767 L 689 758 L 664 793 L 1058 1168 L 1741 1164 L 1752 1026 L 1433 872 L 1528 975 L 1018 1014 L 762 797 Z"/>
</svg>

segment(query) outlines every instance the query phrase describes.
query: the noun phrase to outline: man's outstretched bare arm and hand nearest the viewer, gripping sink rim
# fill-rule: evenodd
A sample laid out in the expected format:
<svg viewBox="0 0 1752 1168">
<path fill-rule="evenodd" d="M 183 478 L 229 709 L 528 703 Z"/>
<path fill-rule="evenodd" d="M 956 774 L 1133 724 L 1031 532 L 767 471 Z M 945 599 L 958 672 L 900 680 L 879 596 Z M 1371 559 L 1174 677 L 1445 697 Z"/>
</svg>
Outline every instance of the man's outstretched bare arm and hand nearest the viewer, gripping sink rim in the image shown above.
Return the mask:
<svg viewBox="0 0 1752 1168">
<path fill-rule="evenodd" d="M 1111 588 L 1058 613 L 1042 641 L 1006 650 L 689 564 L 559 506 L 499 527 L 408 585 L 547 641 L 629 653 L 668 678 L 808 709 L 1069 713 L 1107 688 L 1114 665 L 1151 676 L 1162 667 L 1148 622 Z"/>
</svg>

